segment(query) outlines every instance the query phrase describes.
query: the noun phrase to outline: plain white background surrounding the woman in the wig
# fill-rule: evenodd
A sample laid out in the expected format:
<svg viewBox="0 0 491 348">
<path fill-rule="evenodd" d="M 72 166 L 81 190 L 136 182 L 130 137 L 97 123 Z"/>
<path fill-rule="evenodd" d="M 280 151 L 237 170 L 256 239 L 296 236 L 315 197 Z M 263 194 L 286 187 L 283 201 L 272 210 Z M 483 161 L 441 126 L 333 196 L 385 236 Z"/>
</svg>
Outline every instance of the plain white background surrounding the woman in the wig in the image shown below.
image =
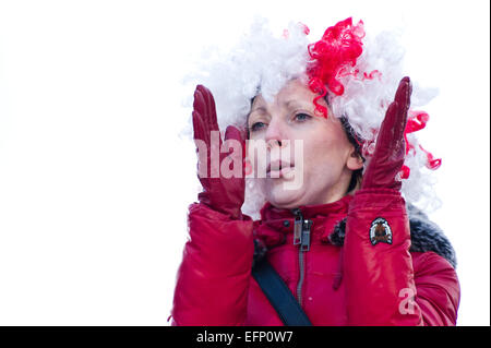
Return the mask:
<svg viewBox="0 0 491 348">
<path fill-rule="evenodd" d="M 431 215 L 458 256 L 459 325 L 489 325 L 489 1 L 1 1 L 0 325 L 167 325 L 195 200 L 181 79 L 254 14 L 311 40 L 348 16 L 405 27 L 440 88 Z"/>
</svg>

